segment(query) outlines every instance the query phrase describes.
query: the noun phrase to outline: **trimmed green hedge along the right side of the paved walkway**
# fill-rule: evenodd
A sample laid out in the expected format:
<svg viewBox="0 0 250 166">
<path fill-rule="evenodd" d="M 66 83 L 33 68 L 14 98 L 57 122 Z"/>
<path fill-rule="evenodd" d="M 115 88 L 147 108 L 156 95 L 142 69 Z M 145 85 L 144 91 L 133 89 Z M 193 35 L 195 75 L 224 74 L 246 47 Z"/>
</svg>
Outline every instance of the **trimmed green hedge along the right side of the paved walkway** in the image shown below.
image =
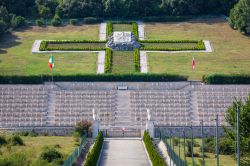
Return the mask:
<svg viewBox="0 0 250 166">
<path fill-rule="evenodd" d="M 150 135 L 146 131 L 144 132 L 143 141 L 153 166 L 165 166 L 165 160 L 157 153 Z"/>
</svg>

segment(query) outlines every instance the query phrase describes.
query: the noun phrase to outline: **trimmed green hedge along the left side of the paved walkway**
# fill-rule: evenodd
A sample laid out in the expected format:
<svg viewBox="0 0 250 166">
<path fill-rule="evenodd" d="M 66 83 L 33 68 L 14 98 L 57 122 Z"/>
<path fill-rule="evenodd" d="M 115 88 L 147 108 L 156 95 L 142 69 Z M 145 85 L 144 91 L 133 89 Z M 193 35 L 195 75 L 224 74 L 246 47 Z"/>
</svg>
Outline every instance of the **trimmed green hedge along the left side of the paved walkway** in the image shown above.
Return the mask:
<svg viewBox="0 0 250 166">
<path fill-rule="evenodd" d="M 95 144 L 91 151 L 88 153 L 86 160 L 84 162 L 84 166 L 94 166 L 97 164 L 103 144 L 103 134 L 99 132 L 96 137 Z"/>
</svg>

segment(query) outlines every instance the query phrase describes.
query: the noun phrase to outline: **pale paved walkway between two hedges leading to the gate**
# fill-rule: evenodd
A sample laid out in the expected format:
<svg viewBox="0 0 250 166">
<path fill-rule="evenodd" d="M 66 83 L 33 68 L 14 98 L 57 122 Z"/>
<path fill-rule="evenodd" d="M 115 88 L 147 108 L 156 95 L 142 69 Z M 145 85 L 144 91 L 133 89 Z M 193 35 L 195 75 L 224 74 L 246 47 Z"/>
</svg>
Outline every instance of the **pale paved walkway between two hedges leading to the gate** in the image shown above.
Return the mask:
<svg viewBox="0 0 250 166">
<path fill-rule="evenodd" d="M 140 139 L 106 139 L 99 166 L 150 166 Z"/>
</svg>

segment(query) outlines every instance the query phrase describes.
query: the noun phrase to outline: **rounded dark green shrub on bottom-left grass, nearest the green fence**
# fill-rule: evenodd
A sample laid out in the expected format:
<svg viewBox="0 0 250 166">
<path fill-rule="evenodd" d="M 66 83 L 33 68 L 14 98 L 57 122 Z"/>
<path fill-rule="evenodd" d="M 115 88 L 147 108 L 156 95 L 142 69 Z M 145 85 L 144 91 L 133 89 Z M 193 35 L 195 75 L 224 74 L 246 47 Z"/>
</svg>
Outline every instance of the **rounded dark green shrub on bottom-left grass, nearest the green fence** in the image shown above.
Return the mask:
<svg viewBox="0 0 250 166">
<path fill-rule="evenodd" d="M 63 155 L 54 148 L 45 148 L 45 150 L 41 153 L 40 158 L 51 163 L 55 160 L 62 159 Z"/>
</svg>

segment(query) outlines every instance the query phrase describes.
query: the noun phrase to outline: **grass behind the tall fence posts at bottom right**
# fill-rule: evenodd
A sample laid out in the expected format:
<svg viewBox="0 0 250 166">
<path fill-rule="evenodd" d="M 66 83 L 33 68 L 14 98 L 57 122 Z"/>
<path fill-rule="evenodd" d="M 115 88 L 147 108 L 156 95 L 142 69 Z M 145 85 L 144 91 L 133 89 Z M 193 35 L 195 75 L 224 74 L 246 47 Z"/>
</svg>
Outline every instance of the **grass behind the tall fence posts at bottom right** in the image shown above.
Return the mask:
<svg viewBox="0 0 250 166">
<path fill-rule="evenodd" d="M 195 139 L 195 141 L 201 145 L 201 139 Z M 181 158 L 184 161 L 184 141 L 181 139 L 181 148 L 180 148 L 180 154 Z M 175 153 L 178 155 L 179 154 L 179 148 L 178 145 L 174 147 Z M 186 146 L 186 152 L 187 152 L 187 146 Z M 201 150 L 200 146 L 199 147 L 194 147 L 194 153 L 198 153 L 201 156 Z M 204 153 L 205 156 L 205 165 L 209 166 L 216 166 L 216 154 L 213 153 Z M 222 166 L 234 166 L 236 165 L 236 161 L 234 160 L 233 156 L 231 155 L 220 155 L 220 165 Z M 186 157 L 187 163 L 189 166 L 192 165 L 192 157 Z M 195 165 L 200 166 L 201 165 L 201 160 L 202 157 L 195 157 L 194 162 L 196 163 Z"/>
</svg>

